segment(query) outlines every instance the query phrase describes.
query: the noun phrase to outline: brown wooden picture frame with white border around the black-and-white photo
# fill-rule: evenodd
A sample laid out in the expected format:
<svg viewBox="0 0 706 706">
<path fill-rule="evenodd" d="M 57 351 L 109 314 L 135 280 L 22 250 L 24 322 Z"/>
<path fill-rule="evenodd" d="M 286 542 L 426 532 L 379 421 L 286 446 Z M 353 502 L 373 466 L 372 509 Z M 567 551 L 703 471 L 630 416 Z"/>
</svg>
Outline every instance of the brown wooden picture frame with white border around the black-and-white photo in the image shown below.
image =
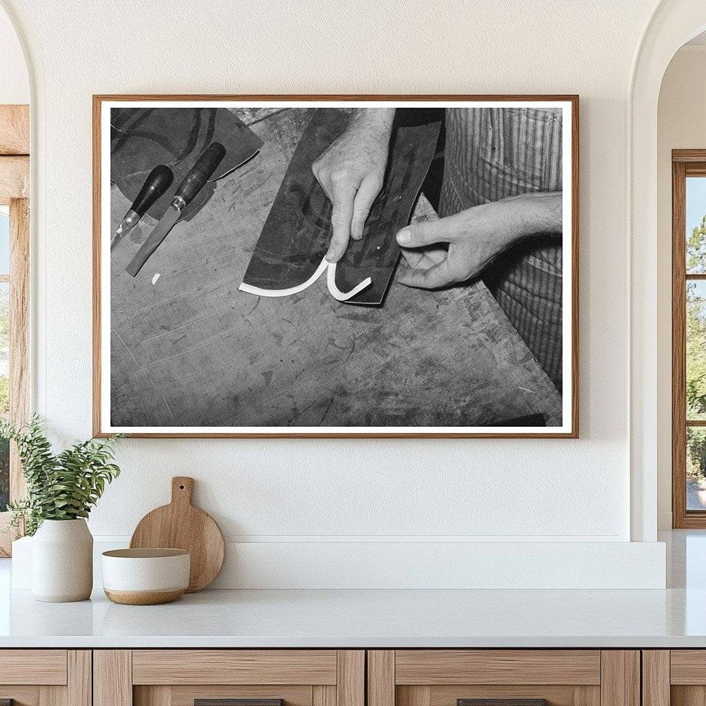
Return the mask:
<svg viewBox="0 0 706 706">
<path fill-rule="evenodd" d="M 341 427 L 319 429 L 318 426 L 297 427 L 287 431 L 289 427 L 267 427 L 261 430 L 258 426 L 243 427 L 205 427 L 193 426 L 121 426 L 112 424 L 110 419 L 110 346 L 107 342 L 103 321 L 107 316 L 106 292 L 109 292 L 111 262 L 106 256 L 109 242 L 109 230 L 114 227 L 110 221 L 107 195 L 110 186 L 106 186 L 107 175 L 110 174 L 109 160 L 110 140 L 106 137 L 106 116 L 111 107 L 177 107 L 179 104 L 198 104 L 208 107 L 209 104 L 232 103 L 232 107 L 242 104 L 272 105 L 272 104 L 306 104 L 307 107 L 377 107 L 381 103 L 393 104 L 393 107 L 455 107 L 464 104 L 498 104 L 501 107 L 522 107 L 538 105 L 559 106 L 565 120 L 564 153 L 570 150 L 570 160 L 566 160 L 563 171 L 563 203 L 570 208 L 563 210 L 563 263 L 569 263 L 563 268 L 563 273 L 570 273 L 570 282 L 563 285 L 563 322 L 566 332 L 566 322 L 569 322 L 568 333 L 563 334 L 563 371 L 564 382 L 560 392 L 561 425 L 552 426 L 493 426 L 479 428 L 456 426 L 435 428 L 376 427 L 373 431 L 366 427 Z M 286 106 L 285 106 L 286 107 Z M 291 107 L 291 106 L 289 106 Z M 109 120 L 108 120 L 109 122 Z M 108 126 L 109 128 L 109 126 Z M 567 149 L 568 148 L 568 149 Z M 98 437 L 109 436 L 120 431 L 138 438 L 578 438 L 579 426 L 579 99 L 577 95 L 94 95 L 93 96 L 93 431 Z M 129 203 L 129 202 L 127 202 Z M 567 231 L 569 232 L 567 241 Z M 568 247 L 567 247 L 568 245 Z M 322 263 L 323 264 L 323 263 Z M 104 277 L 105 271 L 107 275 Z M 159 276 L 160 273 L 155 273 Z M 108 329 L 110 330 L 110 329 Z M 567 350 L 570 352 L 567 353 Z M 107 360 L 108 358 L 108 360 Z M 570 380 L 567 382 L 566 378 Z M 201 429 L 203 428 L 203 431 Z"/>
</svg>

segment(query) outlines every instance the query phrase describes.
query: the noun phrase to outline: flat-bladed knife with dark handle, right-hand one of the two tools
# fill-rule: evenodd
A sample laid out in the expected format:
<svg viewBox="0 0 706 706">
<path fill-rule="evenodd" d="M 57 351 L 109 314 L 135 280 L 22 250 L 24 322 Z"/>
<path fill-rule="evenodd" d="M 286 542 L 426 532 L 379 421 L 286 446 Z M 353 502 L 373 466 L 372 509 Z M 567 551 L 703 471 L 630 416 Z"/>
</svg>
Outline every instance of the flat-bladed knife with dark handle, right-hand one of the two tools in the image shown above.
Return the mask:
<svg viewBox="0 0 706 706">
<path fill-rule="evenodd" d="M 147 240 L 140 246 L 135 257 L 125 268 L 128 275 L 135 277 L 142 266 L 147 262 L 150 255 L 157 249 L 160 243 L 167 237 L 167 233 L 179 220 L 181 211 L 203 189 L 204 184 L 210 179 L 216 167 L 225 157 L 225 147 L 220 142 L 213 142 L 208 148 L 203 150 L 203 154 L 198 158 L 196 164 L 191 167 L 189 174 L 186 174 L 184 181 L 179 184 L 177 193 L 174 194 L 172 205 L 167 208 L 160 222 L 149 234 Z"/>
</svg>

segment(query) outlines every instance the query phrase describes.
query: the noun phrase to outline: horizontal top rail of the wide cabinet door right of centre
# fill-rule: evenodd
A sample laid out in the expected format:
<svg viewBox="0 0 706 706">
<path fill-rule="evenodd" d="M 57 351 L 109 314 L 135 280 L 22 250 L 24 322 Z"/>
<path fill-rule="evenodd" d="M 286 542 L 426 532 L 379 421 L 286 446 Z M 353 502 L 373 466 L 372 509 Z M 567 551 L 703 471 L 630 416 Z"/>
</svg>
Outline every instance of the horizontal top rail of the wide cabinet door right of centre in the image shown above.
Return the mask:
<svg viewBox="0 0 706 706">
<path fill-rule="evenodd" d="M 600 684 L 598 650 L 397 650 L 397 684 Z"/>
</svg>

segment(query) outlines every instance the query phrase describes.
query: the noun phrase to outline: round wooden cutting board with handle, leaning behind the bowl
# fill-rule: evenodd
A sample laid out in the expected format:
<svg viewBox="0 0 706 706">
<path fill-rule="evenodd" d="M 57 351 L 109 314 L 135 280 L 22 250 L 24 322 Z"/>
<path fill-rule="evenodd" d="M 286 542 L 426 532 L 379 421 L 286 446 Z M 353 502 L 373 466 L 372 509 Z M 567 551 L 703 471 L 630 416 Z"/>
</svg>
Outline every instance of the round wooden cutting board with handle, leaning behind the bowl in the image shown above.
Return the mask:
<svg viewBox="0 0 706 706">
<path fill-rule="evenodd" d="M 225 557 L 220 527 L 208 513 L 191 504 L 193 484 L 193 478 L 172 478 L 172 502 L 145 515 L 130 540 L 131 549 L 151 546 L 189 551 L 189 593 L 210 585 Z"/>
</svg>

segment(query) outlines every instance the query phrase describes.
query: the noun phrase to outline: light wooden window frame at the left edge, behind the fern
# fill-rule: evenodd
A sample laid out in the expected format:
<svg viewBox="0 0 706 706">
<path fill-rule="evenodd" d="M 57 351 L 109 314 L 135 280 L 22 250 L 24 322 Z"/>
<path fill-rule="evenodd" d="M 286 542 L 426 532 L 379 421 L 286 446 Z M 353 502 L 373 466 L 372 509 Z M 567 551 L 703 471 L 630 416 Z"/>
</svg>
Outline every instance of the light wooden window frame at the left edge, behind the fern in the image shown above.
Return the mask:
<svg viewBox="0 0 706 706">
<path fill-rule="evenodd" d="M 30 117 L 27 105 L 0 105 L 0 204 L 10 206 L 10 421 L 23 424 L 30 407 Z M 14 444 L 10 448 L 10 499 L 25 494 L 25 481 Z M 8 529 L 9 513 L 0 513 L 0 556 L 10 556 L 22 528 Z"/>
</svg>

